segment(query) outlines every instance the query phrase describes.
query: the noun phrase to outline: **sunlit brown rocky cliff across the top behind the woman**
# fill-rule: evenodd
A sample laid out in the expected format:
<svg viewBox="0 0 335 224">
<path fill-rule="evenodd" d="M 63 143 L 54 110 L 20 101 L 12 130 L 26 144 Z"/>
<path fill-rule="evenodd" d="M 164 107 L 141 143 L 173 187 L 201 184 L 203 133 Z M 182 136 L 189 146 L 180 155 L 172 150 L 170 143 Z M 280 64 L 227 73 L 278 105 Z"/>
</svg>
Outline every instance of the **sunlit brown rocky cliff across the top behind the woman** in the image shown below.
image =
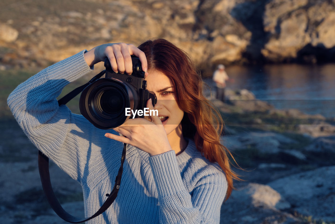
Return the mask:
<svg viewBox="0 0 335 224">
<path fill-rule="evenodd" d="M 335 58 L 334 0 L 3 0 L 0 8 L 3 69 L 157 37 L 189 52 L 203 69 Z"/>
</svg>

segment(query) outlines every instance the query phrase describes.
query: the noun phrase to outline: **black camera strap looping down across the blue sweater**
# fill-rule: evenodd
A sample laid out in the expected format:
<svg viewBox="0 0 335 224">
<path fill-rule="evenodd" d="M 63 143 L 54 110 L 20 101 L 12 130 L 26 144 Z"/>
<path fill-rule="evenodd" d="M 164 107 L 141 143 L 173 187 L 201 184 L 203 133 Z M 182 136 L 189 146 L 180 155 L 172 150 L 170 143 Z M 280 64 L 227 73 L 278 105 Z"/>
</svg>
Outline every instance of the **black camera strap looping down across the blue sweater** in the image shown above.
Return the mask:
<svg viewBox="0 0 335 224">
<path fill-rule="evenodd" d="M 99 79 L 104 74 L 105 74 L 105 70 L 100 72 L 96 76 L 94 76 L 88 83 L 74 89 L 73 91 L 71 91 L 70 93 L 68 93 L 64 97 L 62 97 L 60 100 L 58 100 L 58 105 L 65 105 L 73 97 L 78 95 L 89 84 L 91 84 L 95 80 Z M 62 218 L 66 222 L 70 222 L 70 223 L 86 222 L 86 221 L 88 221 L 90 219 L 93 219 L 93 218 L 97 217 L 98 215 L 102 214 L 112 205 L 113 201 L 115 200 L 116 196 L 118 195 L 118 191 L 119 191 L 119 188 L 120 188 L 121 177 L 122 177 L 122 172 L 123 172 L 123 163 L 124 163 L 124 160 L 125 160 L 125 157 L 126 157 L 126 147 L 127 147 L 127 144 L 124 143 L 124 147 L 123 147 L 123 151 L 122 151 L 122 155 L 121 155 L 121 165 L 120 165 L 120 168 L 119 168 L 118 175 L 115 178 L 115 184 L 114 184 L 112 192 L 110 194 L 106 194 L 107 199 L 106 199 L 105 203 L 100 207 L 100 209 L 94 215 L 92 215 L 91 217 L 88 217 L 88 218 L 86 218 L 86 217 L 80 218 L 80 217 L 72 216 L 63 209 L 63 207 L 59 203 L 59 201 L 58 201 L 58 199 L 57 199 L 57 197 L 56 197 L 56 195 L 53 191 L 52 185 L 51 185 L 50 173 L 49 173 L 49 158 L 45 154 L 43 154 L 43 152 L 41 152 L 39 150 L 38 164 L 39 164 L 39 172 L 40 172 L 42 187 L 43 187 L 44 193 L 45 193 L 45 195 L 46 195 L 46 197 L 49 201 L 49 204 L 50 204 L 51 208 L 56 212 L 56 214 L 60 218 Z"/>
</svg>

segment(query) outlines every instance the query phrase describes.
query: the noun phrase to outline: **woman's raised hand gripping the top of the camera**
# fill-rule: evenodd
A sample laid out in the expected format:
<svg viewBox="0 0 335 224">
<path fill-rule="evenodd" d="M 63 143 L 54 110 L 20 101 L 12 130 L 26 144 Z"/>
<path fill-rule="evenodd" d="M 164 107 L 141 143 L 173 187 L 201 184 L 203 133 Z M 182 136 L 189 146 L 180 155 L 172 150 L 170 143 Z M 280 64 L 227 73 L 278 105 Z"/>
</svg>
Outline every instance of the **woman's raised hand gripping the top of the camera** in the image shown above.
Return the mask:
<svg viewBox="0 0 335 224">
<path fill-rule="evenodd" d="M 116 43 L 99 45 L 87 51 L 84 57 L 88 66 L 105 61 L 105 58 L 108 57 L 114 72 L 130 75 L 133 72 L 130 55 L 135 55 L 140 59 L 142 70 L 145 72 L 145 77 L 147 77 L 148 63 L 145 54 L 133 44 Z"/>
</svg>

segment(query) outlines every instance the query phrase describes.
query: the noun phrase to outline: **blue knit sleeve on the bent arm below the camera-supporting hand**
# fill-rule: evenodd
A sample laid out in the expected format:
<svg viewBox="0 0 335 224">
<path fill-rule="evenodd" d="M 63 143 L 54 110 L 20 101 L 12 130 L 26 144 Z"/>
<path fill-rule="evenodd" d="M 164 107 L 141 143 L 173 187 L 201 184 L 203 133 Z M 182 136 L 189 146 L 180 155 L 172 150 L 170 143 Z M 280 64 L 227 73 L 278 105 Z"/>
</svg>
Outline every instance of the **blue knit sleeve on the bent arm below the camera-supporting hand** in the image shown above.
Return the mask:
<svg viewBox="0 0 335 224">
<path fill-rule="evenodd" d="M 158 191 L 160 223 L 219 223 L 227 191 L 223 172 L 213 170 L 192 191 L 182 181 L 174 151 L 149 158 Z"/>
</svg>

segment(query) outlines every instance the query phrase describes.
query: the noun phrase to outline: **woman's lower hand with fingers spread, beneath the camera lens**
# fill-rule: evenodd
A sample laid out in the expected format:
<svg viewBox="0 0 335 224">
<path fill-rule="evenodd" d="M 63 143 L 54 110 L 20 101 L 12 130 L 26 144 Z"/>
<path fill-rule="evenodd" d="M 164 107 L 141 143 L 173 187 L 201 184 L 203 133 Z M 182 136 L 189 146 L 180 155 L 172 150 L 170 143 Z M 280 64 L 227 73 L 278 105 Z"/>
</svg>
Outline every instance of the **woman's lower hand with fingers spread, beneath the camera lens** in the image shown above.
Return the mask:
<svg viewBox="0 0 335 224">
<path fill-rule="evenodd" d="M 147 101 L 149 110 L 153 109 L 151 99 Z M 152 155 L 171 151 L 166 131 L 158 116 L 150 116 L 151 122 L 144 118 L 128 119 L 124 124 L 114 131 L 123 136 L 106 133 L 107 138 L 111 138 L 123 143 L 133 145 Z"/>
</svg>

